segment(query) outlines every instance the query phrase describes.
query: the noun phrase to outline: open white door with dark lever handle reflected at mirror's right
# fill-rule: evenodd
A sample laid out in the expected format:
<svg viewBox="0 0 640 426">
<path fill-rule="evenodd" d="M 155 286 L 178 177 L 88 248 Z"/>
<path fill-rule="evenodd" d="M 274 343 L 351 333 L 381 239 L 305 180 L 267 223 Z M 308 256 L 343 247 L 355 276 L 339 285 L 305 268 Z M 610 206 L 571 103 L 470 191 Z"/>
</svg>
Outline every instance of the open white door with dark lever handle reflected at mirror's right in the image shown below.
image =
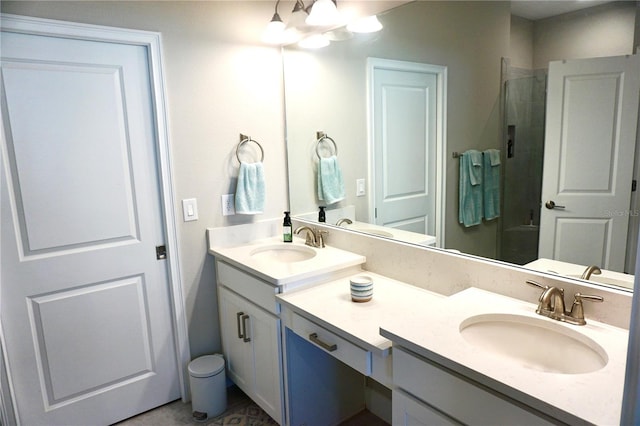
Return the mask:
<svg viewBox="0 0 640 426">
<path fill-rule="evenodd" d="M 639 67 L 635 55 L 550 63 L 540 257 L 623 271 Z"/>
</svg>

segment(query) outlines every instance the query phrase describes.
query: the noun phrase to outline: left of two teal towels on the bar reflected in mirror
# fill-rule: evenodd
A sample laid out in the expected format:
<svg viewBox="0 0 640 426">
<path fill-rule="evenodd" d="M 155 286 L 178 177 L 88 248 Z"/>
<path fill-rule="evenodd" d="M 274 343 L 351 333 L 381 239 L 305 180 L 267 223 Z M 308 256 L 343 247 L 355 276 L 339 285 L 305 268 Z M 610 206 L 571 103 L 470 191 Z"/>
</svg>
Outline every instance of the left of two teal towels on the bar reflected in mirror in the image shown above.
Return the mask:
<svg viewBox="0 0 640 426">
<path fill-rule="evenodd" d="M 458 220 L 464 226 L 482 222 L 482 153 L 469 150 L 460 157 Z"/>
</svg>

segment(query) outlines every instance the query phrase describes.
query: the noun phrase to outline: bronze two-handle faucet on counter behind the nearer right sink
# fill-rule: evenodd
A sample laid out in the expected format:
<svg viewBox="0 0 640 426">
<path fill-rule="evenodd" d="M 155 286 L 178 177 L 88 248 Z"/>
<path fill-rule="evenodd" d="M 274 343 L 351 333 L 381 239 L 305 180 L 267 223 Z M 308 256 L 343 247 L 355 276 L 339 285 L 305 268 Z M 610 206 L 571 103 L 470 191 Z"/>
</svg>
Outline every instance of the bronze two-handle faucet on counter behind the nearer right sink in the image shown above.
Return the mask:
<svg viewBox="0 0 640 426">
<path fill-rule="evenodd" d="M 583 300 L 592 302 L 602 302 L 601 296 L 591 296 L 587 294 L 576 293 L 571 306 L 571 311 L 565 310 L 564 290 L 558 287 L 549 287 L 535 281 L 527 280 L 527 284 L 543 289 L 542 294 L 538 298 L 538 308 L 536 314 L 542 315 L 557 321 L 567 322 L 573 325 L 585 325 Z"/>
</svg>

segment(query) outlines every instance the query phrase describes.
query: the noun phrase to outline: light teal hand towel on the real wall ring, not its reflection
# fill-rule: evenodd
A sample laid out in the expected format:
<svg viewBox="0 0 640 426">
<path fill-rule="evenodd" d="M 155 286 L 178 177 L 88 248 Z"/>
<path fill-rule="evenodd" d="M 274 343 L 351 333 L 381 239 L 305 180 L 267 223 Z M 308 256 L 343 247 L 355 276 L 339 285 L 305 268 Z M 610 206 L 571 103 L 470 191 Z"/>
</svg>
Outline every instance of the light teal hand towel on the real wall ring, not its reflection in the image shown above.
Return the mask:
<svg viewBox="0 0 640 426">
<path fill-rule="evenodd" d="M 240 163 L 236 185 L 236 213 L 260 214 L 264 211 L 265 184 L 262 163 Z"/>
</svg>

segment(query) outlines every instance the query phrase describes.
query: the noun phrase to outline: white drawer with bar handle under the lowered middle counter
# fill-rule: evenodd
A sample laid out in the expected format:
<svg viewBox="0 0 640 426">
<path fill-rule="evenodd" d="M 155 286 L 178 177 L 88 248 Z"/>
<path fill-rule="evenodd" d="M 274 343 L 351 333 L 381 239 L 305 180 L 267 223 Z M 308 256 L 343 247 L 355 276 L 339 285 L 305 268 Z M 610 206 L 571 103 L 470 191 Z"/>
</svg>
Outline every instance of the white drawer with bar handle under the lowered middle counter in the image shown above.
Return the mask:
<svg viewBox="0 0 640 426">
<path fill-rule="evenodd" d="M 291 313 L 290 318 L 289 328 L 298 336 L 328 352 L 359 373 L 365 376 L 371 375 L 371 352 L 354 345 L 295 312 Z"/>
</svg>

